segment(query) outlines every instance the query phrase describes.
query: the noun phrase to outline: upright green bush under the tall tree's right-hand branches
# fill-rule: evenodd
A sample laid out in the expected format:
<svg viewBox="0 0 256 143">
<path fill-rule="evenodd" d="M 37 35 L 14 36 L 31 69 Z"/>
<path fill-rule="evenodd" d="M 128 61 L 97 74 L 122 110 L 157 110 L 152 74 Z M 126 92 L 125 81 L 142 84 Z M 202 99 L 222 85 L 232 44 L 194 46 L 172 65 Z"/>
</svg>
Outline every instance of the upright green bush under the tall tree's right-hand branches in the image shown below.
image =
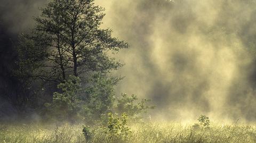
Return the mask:
<svg viewBox="0 0 256 143">
<path fill-rule="evenodd" d="M 108 113 L 113 109 L 115 101 L 114 86 L 119 78 L 107 73 L 94 73 L 84 85 L 81 115 L 87 124 L 106 124 Z"/>
</svg>

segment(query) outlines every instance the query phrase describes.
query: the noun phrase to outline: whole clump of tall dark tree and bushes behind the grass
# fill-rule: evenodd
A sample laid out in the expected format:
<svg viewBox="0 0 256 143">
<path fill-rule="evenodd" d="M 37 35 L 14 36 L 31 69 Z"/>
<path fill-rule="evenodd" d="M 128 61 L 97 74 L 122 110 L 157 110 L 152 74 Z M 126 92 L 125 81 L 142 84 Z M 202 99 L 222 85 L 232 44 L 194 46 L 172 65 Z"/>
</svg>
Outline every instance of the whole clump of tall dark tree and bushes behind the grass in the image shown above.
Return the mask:
<svg viewBox="0 0 256 143">
<path fill-rule="evenodd" d="M 114 55 L 129 45 L 100 28 L 102 7 L 93 0 L 53 0 L 41 12 L 35 27 L 15 43 L 16 91 L 1 94 L 15 115 L 92 123 L 110 112 L 138 117 L 151 108 L 149 100 L 137 102 L 136 96 L 116 99 L 114 86 L 122 78 L 110 72 L 123 64 Z"/>
</svg>

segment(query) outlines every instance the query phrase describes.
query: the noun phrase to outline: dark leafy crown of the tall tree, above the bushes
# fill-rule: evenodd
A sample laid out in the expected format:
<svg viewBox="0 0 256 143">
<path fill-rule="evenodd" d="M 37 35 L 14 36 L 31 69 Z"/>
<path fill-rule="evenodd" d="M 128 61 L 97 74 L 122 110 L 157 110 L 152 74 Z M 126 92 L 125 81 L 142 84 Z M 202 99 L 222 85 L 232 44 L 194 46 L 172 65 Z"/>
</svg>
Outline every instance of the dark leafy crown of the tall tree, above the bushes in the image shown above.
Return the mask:
<svg viewBox="0 0 256 143">
<path fill-rule="evenodd" d="M 62 82 L 67 74 L 77 77 L 122 66 L 109 51 L 115 54 L 128 44 L 112 37 L 110 29 L 100 29 L 105 14 L 93 0 L 53 0 L 41 10 L 35 29 L 20 44 L 25 45 L 20 46 L 21 57 L 26 55 L 20 63 L 33 65 L 31 77 Z"/>
</svg>

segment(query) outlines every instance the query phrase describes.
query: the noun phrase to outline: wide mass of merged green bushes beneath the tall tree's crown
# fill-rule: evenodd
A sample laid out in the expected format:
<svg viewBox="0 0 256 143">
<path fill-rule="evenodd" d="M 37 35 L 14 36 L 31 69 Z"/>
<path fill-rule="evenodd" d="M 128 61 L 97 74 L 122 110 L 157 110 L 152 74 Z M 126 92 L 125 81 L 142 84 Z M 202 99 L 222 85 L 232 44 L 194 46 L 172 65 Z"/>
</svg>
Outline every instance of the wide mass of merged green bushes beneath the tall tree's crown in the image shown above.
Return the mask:
<svg viewBox="0 0 256 143">
<path fill-rule="evenodd" d="M 85 80 L 85 79 L 83 79 Z M 103 73 L 94 73 L 84 83 L 70 75 L 58 85 L 51 103 L 46 103 L 49 119 L 58 121 L 83 121 L 90 124 L 107 123 L 107 113 L 114 105 L 114 85 L 118 78 Z"/>
</svg>

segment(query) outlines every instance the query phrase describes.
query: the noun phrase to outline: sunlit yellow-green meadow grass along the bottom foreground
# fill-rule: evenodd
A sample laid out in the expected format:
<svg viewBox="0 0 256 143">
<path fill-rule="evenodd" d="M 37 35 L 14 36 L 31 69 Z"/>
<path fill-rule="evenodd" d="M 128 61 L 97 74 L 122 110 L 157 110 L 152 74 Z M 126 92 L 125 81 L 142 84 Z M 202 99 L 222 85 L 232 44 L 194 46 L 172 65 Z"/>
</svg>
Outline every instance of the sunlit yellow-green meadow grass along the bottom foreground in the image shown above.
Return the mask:
<svg viewBox="0 0 256 143">
<path fill-rule="evenodd" d="M 193 124 L 140 123 L 130 125 L 126 140 L 110 139 L 105 128 L 94 128 L 86 141 L 82 125 L 4 125 L 0 142 L 256 142 L 256 127 L 250 125 L 217 125 L 195 128 Z"/>
</svg>

